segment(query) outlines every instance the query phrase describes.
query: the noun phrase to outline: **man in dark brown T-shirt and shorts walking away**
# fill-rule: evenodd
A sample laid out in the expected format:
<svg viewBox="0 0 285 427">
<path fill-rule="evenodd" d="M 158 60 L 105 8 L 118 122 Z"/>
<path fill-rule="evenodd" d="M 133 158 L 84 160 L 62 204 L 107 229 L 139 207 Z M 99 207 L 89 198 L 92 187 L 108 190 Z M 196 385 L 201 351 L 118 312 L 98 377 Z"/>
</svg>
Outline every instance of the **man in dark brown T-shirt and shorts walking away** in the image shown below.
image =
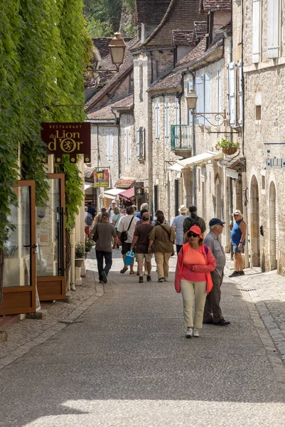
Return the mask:
<svg viewBox="0 0 285 427">
<path fill-rule="evenodd" d="M 138 263 L 139 283 L 144 282 L 144 276 L 142 275 L 144 260 L 147 269 L 146 280 L 151 282 L 152 253 L 149 253 L 149 233 L 154 228 L 154 225 L 150 224 L 149 220 L 149 212 L 144 212 L 142 214 L 142 223 L 136 226 L 133 241 L 131 242 L 131 251 L 136 245 L 136 261 Z"/>
</svg>

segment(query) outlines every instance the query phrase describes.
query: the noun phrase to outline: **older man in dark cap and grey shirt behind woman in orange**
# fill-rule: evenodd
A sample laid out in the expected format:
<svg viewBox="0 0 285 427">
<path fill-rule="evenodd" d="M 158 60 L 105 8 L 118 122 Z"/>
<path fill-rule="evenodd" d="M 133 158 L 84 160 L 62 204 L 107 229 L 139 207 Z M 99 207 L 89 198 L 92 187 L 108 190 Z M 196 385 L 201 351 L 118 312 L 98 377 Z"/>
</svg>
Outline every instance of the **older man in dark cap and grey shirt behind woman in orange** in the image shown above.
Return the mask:
<svg viewBox="0 0 285 427">
<path fill-rule="evenodd" d="M 205 245 L 210 248 L 216 260 L 215 270 L 211 271 L 213 288 L 206 297 L 203 323 L 210 323 L 217 326 L 230 325 L 230 322 L 222 316 L 220 307 L 221 286 L 224 278 L 225 251 L 218 237 L 222 234 L 225 222 L 219 218 L 213 218 L 209 222 L 210 232 L 204 239 Z"/>
</svg>

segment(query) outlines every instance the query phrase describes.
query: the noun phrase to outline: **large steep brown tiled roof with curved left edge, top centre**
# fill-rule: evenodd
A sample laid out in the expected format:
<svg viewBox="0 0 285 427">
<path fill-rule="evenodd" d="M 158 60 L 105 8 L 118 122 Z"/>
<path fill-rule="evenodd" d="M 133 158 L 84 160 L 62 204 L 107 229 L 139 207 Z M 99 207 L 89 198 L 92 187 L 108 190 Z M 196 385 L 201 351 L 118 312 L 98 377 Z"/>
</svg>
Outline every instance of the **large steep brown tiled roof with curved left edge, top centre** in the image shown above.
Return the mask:
<svg viewBox="0 0 285 427">
<path fill-rule="evenodd" d="M 161 22 L 144 42 L 139 41 L 131 51 L 139 48 L 160 48 L 173 46 L 173 30 L 193 30 L 194 21 L 205 21 L 199 14 L 199 0 L 171 0 Z"/>
</svg>

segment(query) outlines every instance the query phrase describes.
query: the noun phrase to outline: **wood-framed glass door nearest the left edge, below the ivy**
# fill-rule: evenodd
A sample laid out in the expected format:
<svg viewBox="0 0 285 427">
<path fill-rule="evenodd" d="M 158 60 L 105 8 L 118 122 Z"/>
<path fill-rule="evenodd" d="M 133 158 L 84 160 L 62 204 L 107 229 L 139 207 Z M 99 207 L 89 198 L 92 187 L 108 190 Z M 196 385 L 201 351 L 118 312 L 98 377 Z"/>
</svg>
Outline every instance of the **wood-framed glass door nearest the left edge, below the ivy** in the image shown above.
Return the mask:
<svg viewBox="0 0 285 427">
<path fill-rule="evenodd" d="M 14 186 L 18 206 L 11 205 L 9 231 L 4 245 L 3 301 L 0 315 L 36 312 L 36 206 L 34 181 Z"/>
</svg>

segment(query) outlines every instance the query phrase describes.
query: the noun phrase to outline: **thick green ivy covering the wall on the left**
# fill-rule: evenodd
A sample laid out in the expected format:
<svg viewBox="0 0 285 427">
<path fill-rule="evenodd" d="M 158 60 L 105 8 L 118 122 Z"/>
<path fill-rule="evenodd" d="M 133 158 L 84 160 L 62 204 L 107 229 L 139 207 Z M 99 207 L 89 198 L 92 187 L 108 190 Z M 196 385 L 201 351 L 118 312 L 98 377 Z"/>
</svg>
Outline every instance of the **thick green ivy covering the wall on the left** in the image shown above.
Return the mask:
<svg viewBox="0 0 285 427">
<path fill-rule="evenodd" d="M 82 17 L 82 0 L 1 2 L 0 248 L 9 227 L 9 202 L 16 203 L 11 191 L 14 181 L 33 179 L 37 203 L 45 199 L 41 122 L 85 120 L 83 74 L 91 48 Z M 63 172 L 65 169 L 78 184 L 76 165 L 63 162 Z M 68 228 L 77 211 L 76 198 L 80 198 L 74 187 L 68 189 L 67 195 Z"/>
</svg>

